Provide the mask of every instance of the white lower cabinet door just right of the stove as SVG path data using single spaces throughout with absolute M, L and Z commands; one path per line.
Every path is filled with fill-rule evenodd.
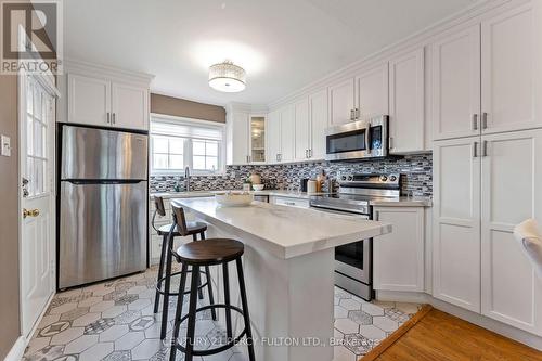
M 424 208 L 374 207 L 373 212 L 392 225 L 373 242 L 374 289 L 424 292 Z

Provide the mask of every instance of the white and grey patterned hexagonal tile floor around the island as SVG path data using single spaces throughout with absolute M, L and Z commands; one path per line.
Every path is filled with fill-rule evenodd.
M 155 278 L 156 269 L 151 269 L 56 294 L 24 360 L 168 360 L 169 348 L 159 339 L 162 313 L 153 313 Z M 176 301 L 175 297 L 170 301 L 168 336 Z M 417 309 L 418 305 L 413 304 L 366 302 L 336 288 L 335 338 L 338 346 L 334 348 L 335 361 L 356 361 Z M 212 321 L 209 311 L 198 315 L 196 336 L 196 348 L 206 349 L 219 346 L 225 333 Z M 182 359 L 179 352 L 177 360 Z M 244 347 L 240 346 L 195 360 L 246 361 L 247 358 Z

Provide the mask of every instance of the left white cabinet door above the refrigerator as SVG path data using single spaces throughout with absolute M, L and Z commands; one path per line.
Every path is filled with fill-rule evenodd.
M 68 74 L 69 123 L 111 126 L 111 81 Z

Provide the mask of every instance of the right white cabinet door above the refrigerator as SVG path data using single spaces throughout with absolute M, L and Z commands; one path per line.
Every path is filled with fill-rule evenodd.
M 149 130 L 149 90 L 113 82 L 111 123 L 115 127 Z

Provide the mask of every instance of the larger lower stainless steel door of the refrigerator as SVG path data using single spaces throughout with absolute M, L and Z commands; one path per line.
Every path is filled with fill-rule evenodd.
M 147 183 L 61 183 L 59 288 L 146 268 Z

